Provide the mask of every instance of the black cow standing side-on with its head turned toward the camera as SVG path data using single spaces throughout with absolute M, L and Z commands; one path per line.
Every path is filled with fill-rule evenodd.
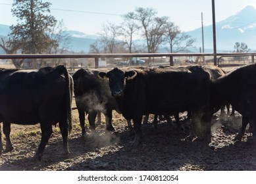
M 194 70 L 152 68 L 124 72 L 114 68 L 99 73 L 101 78 L 109 78 L 111 93 L 124 118 L 134 121 L 134 146 L 140 143 L 143 114 L 175 114 L 186 110 L 193 112 L 194 125 L 196 120 L 202 122 L 203 131 L 199 137 L 211 141 L 210 78 L 203 68 L 198 66 Z

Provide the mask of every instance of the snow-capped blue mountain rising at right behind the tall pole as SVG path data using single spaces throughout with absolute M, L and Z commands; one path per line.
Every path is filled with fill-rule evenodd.
M 213 26 L 204 26 L 205 49 L 213 51 Z M 202 45 L 201 28 L 186 32 L 197 39 L 195 46 Z M 248 48 L 256 49 L 256 9 L 252 5 L 244 7 L 240 12 L 226 20 L 216 22 L 217 51 L 233 51 L 236 42 L 244 42 Z M 199 51 L 199 49 L 198 49 Z

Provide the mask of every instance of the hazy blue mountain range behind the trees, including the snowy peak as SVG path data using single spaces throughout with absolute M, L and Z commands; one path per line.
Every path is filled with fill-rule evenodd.
M 0 37 L 6 37 L 10 32 L 9 26 L 0 24 Z M 213 52 L 213 25 L 203 26 L 205 52 Z M 97 35 L 87 35 L 82 32 L 68 30 L 70 35 L 70 51 L 88 53 L 90 45 L 97 39 Z M 186 34 L 196 41 L 192 52 L 199 52 L 202 47 L 201 28 Z M 246 43 L 248 48 L 256 50 L 256 9 L 247 5 L 240 12 L 216 22 L 217 52 L 232 52 L 236 42 Z M 163 49 L 163 52 L 164 51 Z M 3 53 L 0 49 L 0 53 Z

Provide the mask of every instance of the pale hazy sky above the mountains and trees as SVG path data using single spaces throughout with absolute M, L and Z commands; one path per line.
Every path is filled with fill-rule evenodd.
M 43 0 L 45 2 L 47 0 Z M 48 0 L 52 3 L 51 14 L 64 21 L 68 30 L 85 34 L 97 34 L 104 22 L 120 23 L 120 15 L 134 11 L 136 7 L 153 8 L 158 16 L 169 16 L 184 32 L 201 27 L 203 22 L 212 24 L 212 0 Z M 0 0 L 0 24 L 15 24 L 11 14 L 12 0 Z M 254 5 L 256 0 L 215 0 L 216 22 L 236 14 L 246 5 Z M 241 22 L 242 24 L 242 22 Z

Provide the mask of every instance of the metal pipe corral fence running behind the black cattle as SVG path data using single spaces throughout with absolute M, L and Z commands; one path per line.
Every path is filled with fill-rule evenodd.
M 78 68 L 111 68 L 130 65 L 184 65 L 214 64 L 220 67 L 242 66 L 254 63 L 256 53 L 122 53 L 122 54 L 41 54 L 41 55 L 0 55 L 0 61 L 24 59 L 28 63 L 22 68 L 41 68 L 64 64 L 70 72 Z M 215 60 L 214 58 L 217 58 Z M 145 63 L 133 63 L 133 58 L 141 58 Z M 61 60 L 64 59 L 64 60 Z M 84 62 L 87 59 L 88 62 Z M 60 61 L 61 60 L 61 61 Z M 1 62 L 3 63 L 3 62 Z M 24 62 L 26 63 L 26 62 Z M 1 67 L 1 66 L 0 66 Z M 3 68 L 3 67 L 2 67 Z

